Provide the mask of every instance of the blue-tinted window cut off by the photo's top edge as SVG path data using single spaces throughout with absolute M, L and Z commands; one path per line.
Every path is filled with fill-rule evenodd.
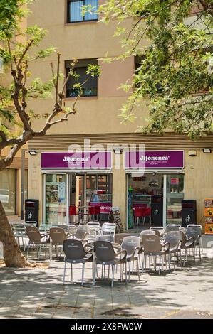
M 91 6 L 91 12 L 87 11 L 82 16 L 82 6 Z M 98 0 L 68 0 L 68 23 L 82 21 L 96 21 L 98 14 L 95 11 L 98 9 Z

